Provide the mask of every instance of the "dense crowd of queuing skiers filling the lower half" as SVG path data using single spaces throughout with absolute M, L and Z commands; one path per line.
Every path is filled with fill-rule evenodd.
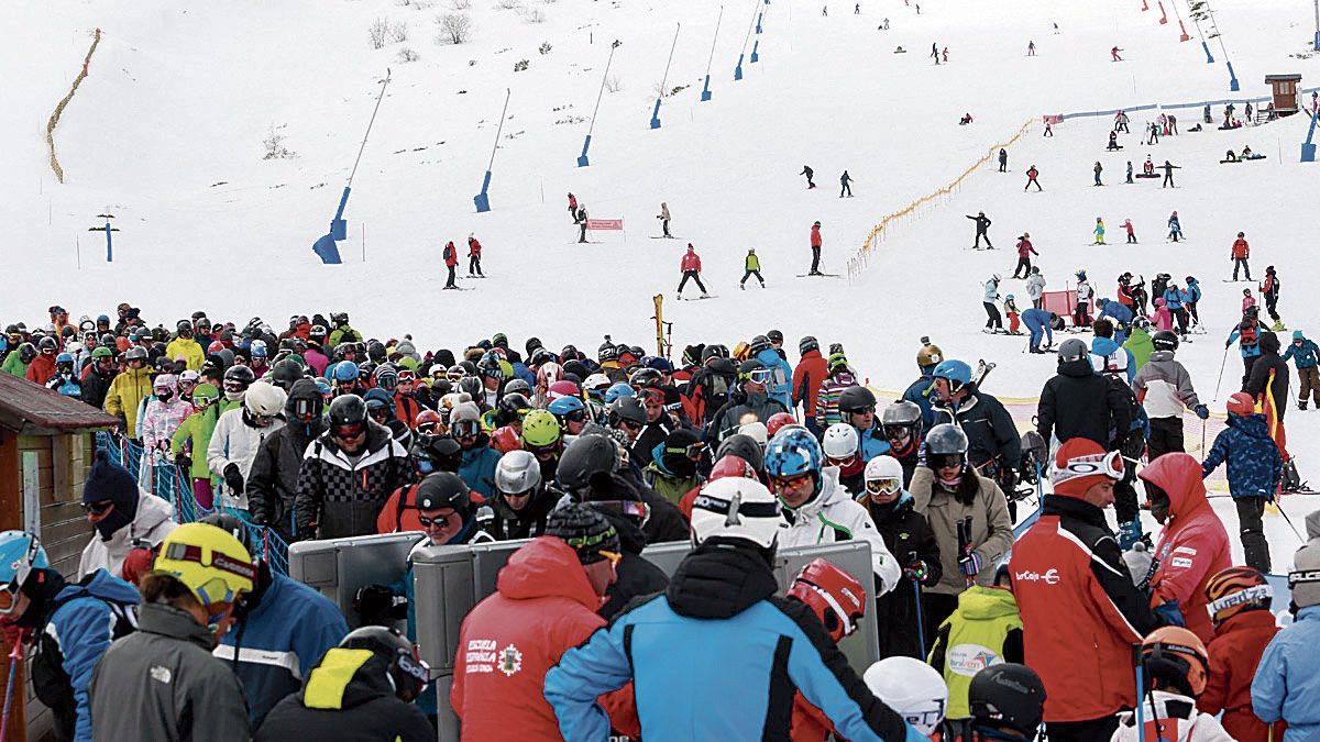
M 594 356 L 503 334 L 422 354 L 345 313 L 279 334 L 197 313 L 168 333 L 129 305 L 114 327 L 54 306 L 49 329 L 9 327 L 5 370 L 17 354 L 28 375 L 22 349 L 54 343 L 44 363 L 81 386 L 70 396 L 145 453 L 136 475 L 98 453 L 78 584 L 33 535 L 0 535 L 0 622 L 46 663 L 33 681 L 61 738 L 433 738 L 432 676 L 383 626 L 414 627 L 411 578 L 362 588 L 346 621 L 275 573 L 248 523 L 286 541 L 532 539 L 459 631 L 466 739 L 1024 741 L 1041 722 L 1053 741 L 1135 739 L 1137 709 L 1189 739 L 1265 739 L 1280 720 L 1304 739 L 1320 725 L 1320 671 L 1296 659 L 1320 631 L 1320 541 L 1295 556 L 1296 623 L 1278 636 L 1262 576 L 1287 462 L 1279 343 L 1238 333 L 1255 360 L 1197 462 L 1181 415 L 1208 411 L 1179 337 L 1129 350 L 1142 323 L 1110 317 L 1090 347 L 1060 345 L 1019 437 L 986 368 L 925 338 L 920 376 L 882 404 L 841 346 L 804 337 L 791 363 L 775 330 L 673 364 L 610 338 Z M 1320 395 L 1316 355 L 1299 333 L 1288 358 Z M 1201 483 L 1224 462 L 1247 566 Z M 214 511 L 203 523 L 176 524 L 150 494 L 176 471 Z M 1320 516 L 1308 525 L 1320 537 Z M 869 580 L 818 560 L 780 594 L 776 548 L 850 540 L 870 547 Z M 694 547 L 672 576 L 643 556 L 664 541 Z M 834 646 L 859 621 L 883 658 L 865 675 Z

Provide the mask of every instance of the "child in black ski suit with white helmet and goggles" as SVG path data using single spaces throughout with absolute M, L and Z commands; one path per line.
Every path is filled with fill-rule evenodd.
M 892 455 L 866 462 L 865 492 L 858 502 L 866 507 L 890 553 L 903 565 L 899 585 L 875 598 L 875 622 L 880 634 L 880 659 L 925 658 L 921 646 L 921 588 L 940 582 L 940 547 L 925 518 L 912 510 L 912 495 L 903 489 L 903 465 Z M 925 638 L 927 640 L 932 638 Z

